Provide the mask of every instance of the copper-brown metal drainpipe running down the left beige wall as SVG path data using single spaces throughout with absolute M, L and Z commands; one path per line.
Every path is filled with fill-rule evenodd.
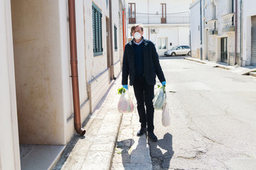
M 79 135 L 85 135 L 85 130 L 82 129 L 80 118 L 80 99 L 78 87 L 78 57 L 76 44 L 76 28 L 75 28 L 75 0 L 68 0 L 68 15 L 70 28 L 70 64 L 73 89 L 73 107 L 74 107 L 74 125 L 75 131 Z

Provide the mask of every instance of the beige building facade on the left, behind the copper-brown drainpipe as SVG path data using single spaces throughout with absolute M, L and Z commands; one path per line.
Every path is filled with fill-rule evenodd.
M 1 0 L 0 169 L 21 168 L 19 145 L 66 145 L 75 134 L 69 2 Z M 124 8 L 75 1 L 81 122 L 121 72 Z

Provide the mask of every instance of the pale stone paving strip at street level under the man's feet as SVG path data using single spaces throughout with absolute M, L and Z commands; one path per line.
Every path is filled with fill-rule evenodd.
M 147 137 L 146 135 L 137 137 L 137 131 L 141 128 L 141 125 L 137 113 L 137 101 L 131 86 L 129 86 L 129 94 L 132 96 L 134 103 L 134 112 L 123 114 L 117 146 L 114 150 L 112 169 L 152 169 Z

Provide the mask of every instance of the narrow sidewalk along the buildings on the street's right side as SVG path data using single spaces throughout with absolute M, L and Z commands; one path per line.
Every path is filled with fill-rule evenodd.
M 240 74 L 240 75 L 251 75 L 251 76 L 254 76 L 256 77 L 256 66 L 245 66 L 245 67 L 238 67 L 238 66 L 230 66 L 226 63 L 223 63 L 223 62 L 210 62 L 208 60 L 200 60 L 198 58 L 193 58 L 193 57 L 187 57 L 187 58 L 184 58 L 185 60 L 189 60 L 189 61 L 192 61 L 192 62 L 199 62 L 201 64 L 206 64 L 208 65 L 209 67 L 219 67 L 221 69 L 226 69 L 230 72 L 233 72 L 233 73 L 237 73 L 237 74 Z

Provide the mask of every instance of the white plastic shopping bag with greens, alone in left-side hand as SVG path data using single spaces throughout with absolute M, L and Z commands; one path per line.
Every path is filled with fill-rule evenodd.
M 119 98 L 118 111 L 119 113 L 131 113 L 134 111 L 134 104 L 132 103 L 132 99 L 129 96 L 128 90 L 122 92 Z

